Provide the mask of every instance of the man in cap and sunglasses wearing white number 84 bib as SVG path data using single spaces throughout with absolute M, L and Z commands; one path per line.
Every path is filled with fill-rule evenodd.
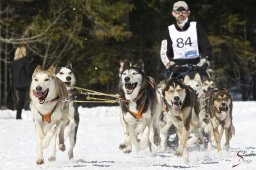
M 174 3 L 172 16 L 176 22 L 169 25 L 161 43 L 160 56 L 164 64 L 165 78 L 169 78 L 175 65 L 198 65 L 209 67 L 211 46 L 202 26 L 189 18 L 186 2 Z

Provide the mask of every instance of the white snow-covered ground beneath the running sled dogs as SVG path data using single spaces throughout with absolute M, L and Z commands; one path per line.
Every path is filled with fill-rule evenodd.
M 56 161 L 49 162 L 49 150 L 44 151 L 45 164 L 36 165 L 36 135 L 30 111 L 23 110 L 23 120 L 16 120 L 16 111 L 0 110 L 0 170 L 33 169 L 189 169 L 189 170 L 255 170 L 256 169 L 256 102 L 234 102 L 233 120 L 236 134 L 229 151 L 190 149 L 190 162 L 174 155 L 174 148 L 165 152 L 153 148 L 122 153 L 123 142 L 119 121 L 120 108 L 79 108 L 80 125 L 74 148 L 75 159 L 68 160 L 67 151 L 58 150 Z M 255 127 L 254 127 L 255 126 Z M 66 141 L 67 148 L 69 142 Z M 238 154 L 238 155 L 237 155 Z M 233 167 L 233 165 L 237 165 Z

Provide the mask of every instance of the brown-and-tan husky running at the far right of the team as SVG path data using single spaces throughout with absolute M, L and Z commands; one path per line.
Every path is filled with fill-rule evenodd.
M 227 89 L 217 89 L 208 92 L 206 113 L 210 115 L 211 137 L 216 143 L 217 151 L 221 151 L 221 139 L 225 131 L 225 149 L 229 149 L 230 140 L 235 134 L 232 121 L 232 96 Z M 208 145 L 209 146 L 209 145 Z

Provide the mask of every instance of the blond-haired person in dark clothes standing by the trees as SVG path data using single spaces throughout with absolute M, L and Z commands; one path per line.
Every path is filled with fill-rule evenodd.
M 21 119 L 22 108 L 25 105 L 32 79 L 32 66 L 28 60 L 27 50 L 24 46 L 18 47 L 15 51 L 12 74 L 13 85 L 18 92 L 16 119 Z

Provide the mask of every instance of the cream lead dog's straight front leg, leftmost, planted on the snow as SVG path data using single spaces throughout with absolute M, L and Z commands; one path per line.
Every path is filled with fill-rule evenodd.
M 36 164 L 41 165 L 44 163 L 44 158 L 43 158 L 43 131 L 41 129 L 40 124 L 35 121 L 35 128 L 36 128 L 36 136 L 37 136 L 37 159 L 36 159 Z

